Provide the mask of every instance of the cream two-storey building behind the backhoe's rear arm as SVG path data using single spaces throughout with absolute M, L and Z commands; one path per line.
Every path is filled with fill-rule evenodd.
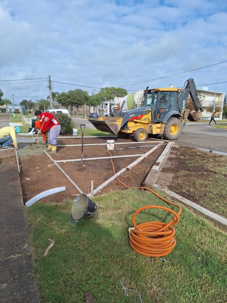
M 208 87 L 197 88 L 197 91 L 199 94 L 199 100 L 201 102 L 201 105 L 204 107 L 204 111 L 202 113 L 202 120 L 209 120 L 211 118 L 212 113 L 207 111 L 206 107 L 214 106 L 214 100 L 215 100 L 215 107 L 218 106 L 221 109 L 221 112 L 216 113 L 215 118 L 222 119 L 225 93 L 216 92 L 216 96 L 215 96 L 215 91 L 210 91 Z

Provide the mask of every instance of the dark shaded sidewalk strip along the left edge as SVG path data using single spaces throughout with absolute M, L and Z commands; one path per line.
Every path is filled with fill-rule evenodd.
M 15 158 L 0 154 L 0 302 L 38 303 L 29 236 Z

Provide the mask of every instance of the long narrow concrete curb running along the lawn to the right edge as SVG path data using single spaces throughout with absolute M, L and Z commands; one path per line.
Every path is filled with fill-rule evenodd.
M 187 205 L 187 206 L 190 206 L 194 209 L 196 209 L 197 211 L 199 211 L 199 213 L 201 215 L 203 215 L 205 218 L 207 218 L 208 220 L 220 225 L 220 226 L 223 226 L 223 227 L 227 227 L 227 219 L 225 219 L 224 217 L 220 216 L 220 215 L 217 215 L 215 213 L 213 213 L 212 211 L 209 211 L 208 209 L 186 199 L 186 198 L 183 198 L 181 197 L 180 195 L 177 195 L 175 192 L 173 191 L 170 191 L 166 188 L 163 188 L 162 186 L 160 185 L 157 185 L 157 184 L 153 184 L 154 187 L 166 192 L 166 194 L 172 196 L 173 198 L 176 198 L 177 200 L 179 200 L 181 203 L 183 203 L 184 205 Z

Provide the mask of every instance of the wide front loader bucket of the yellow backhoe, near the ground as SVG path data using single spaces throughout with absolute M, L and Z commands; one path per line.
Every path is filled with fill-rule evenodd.
M 101 132 L 109 132 L 111 134 L 117 134 L 120 131 L 120 127 L 123 119 L 119 117 L 100 117 L 88 119 L 91 124 L 94 125 L 97 130 Z

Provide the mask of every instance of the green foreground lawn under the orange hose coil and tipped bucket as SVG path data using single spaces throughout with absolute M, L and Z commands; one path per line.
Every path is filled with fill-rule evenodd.
M 136 189 L 93 200 L 98 206 L 96 216 L 78 223 L 70 221 L 71 201 L 37 202 L 26 208 L 40 303 L 83 303 L 87 291 L 92 291 L 97 303 L 138 303 L 138 293 L 129 291 L 127 298 L 120 280 L 140 291 L 143 303 L 226 302 L 227 235 L 223 231 L 182 206 L 174 226 L 176 247 L 165 257 L 171 263 L 166 263 L 137 254 L 128 241 L 134 211 L 144 205 L 166 206 L 165 202 Z M 171 218 L 163 210 L 146 210 L 137 216 L 137 223 Z M 49 237 L 56 242 L 43 258 Z

